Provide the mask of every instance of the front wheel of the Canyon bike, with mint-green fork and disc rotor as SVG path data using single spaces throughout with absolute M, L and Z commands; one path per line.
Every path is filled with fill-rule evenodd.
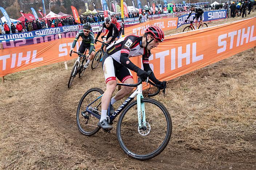
M 169 143 L 172 120 L 168 110 L 159 101 L 143 98 L 141 103 L 145 106 L 146 126 L 138 128 L 137 101 L 133 101 L 120 115 L 116 135 L 128 156 L 147 160 L 160 154 Z

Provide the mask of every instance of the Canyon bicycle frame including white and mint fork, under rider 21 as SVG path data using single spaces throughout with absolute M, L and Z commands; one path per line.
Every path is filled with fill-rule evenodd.
M 123 85 L 123 86 L 129 86 L 129 84 L 121 84 L 121 83 L 117 83 L 117 85 Z M 142 95 L 142 84 L 139 84 L 137 86 L 137 89 L 123 102 L 123 104 L 121 106 L 118 107 L 118 109 L 112 114 L 109 115 L 109 110 L 110 110 L 110 104 L 108 106 L 108 116 L 109 116 L 109 122 L 113 122 L 113 120 L 115 120 L 115 118 L 125 109 L 126 106 L 129 105 L 129 103 L 137 96 L 137 112 L 138 112 L 138 122 L 139 122 L 139 128 L 142 127 L 142 122 L 141 122 L 141 114 L 142 114 L 142 121 L 143 121 L 143 126 L 145 126 L 145 122 L 146 122 L 146 117 L 145 117 L 145 107 L 144 107 L 144 103 L 141 104 L 140 99 L 143 98 Z M 94 102 L 96 102 L 98 99 L 100 99 L 102 97 L 102 95 L 100 95 L 99 97 L 97 97 L 97 99 L 95 99 L 92 103 L 90 103 L 87 107 L 86 107 L 86 111 L 90 114 L 92 114 L 93 116 L 95 116 L 96 118 L 100 119 L 101 115 L 94 113 L 93 111 L 89 110 L 88 107 L 91 106 Z M 99 103 L 99 105 L 101 104 L 101 102 Z M 98 105 L 98 106 L 99 106 Z

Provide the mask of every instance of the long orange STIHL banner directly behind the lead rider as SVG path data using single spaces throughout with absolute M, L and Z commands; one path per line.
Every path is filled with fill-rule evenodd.
M 180 33 L 151 50 L 150 66 L 161 81 L 184 75 L 256 46 L 256 18 Z M 139 35 L 144 28 L 137 30 Z M 70 57 L 73 38 L 0 50 L 0 77 L 9 73 L 76 58 Z M 79 42 L 80 43 L 80 42 Z M 97 43 L 96 49 L 99 49 Z M 79 44 L 76 44 L 76 51 Z M 141 58 L 131 58 L 141 66 Z

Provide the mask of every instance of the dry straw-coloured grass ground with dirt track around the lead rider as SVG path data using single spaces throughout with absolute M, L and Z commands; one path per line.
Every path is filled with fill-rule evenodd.
M 220 22 L 225 20 L 215 24 Z M 91 137 L 79 133 L 81 96 L 95 86 L 105 90 L 105 83 L 102 69 L 88 69 L 68 89 L 73 63 L 68 70 L 57 63 L 5 76 L 0 169 L 255 169 L 252 50 L 168 82 L 165 97 L 155 98 L 171 114 L 172 137 L 163 153 L 144 162 L 125 156 L 115 129 Z

